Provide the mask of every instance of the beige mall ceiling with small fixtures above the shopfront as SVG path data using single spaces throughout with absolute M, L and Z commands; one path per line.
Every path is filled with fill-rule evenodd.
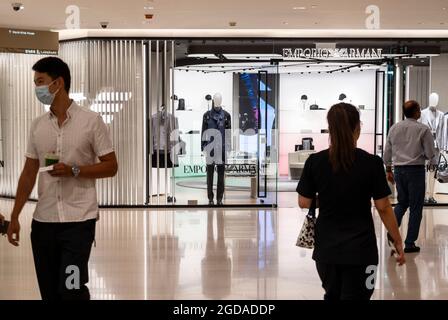
M 0 0 L 0 27 L 63 30 L 77 5 L 81 29 L 365 29 L 371 4 L 381 29 L 448 30 L 448 0 Z

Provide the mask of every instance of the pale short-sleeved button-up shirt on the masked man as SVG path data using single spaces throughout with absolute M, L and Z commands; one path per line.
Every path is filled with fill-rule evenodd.
M 108 127 L 101 116 L 72 102 L 67 120 L 58 125 L 47 112 L 31 124 L 25 156 L 45 166 L 45 154 L 55 153 L 66 165 L 86 166 L 113 152 Z M 38 203 L 33 218 L 40 222 L 82 222 L 98 219 L 95 179 L 52 177 L 39 173 Z

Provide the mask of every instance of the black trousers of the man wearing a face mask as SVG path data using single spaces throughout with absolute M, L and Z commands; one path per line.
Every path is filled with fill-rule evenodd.
M 88 262 L 96 220 L 33 220 L 31 245 L 42 300 L 90 300 Z

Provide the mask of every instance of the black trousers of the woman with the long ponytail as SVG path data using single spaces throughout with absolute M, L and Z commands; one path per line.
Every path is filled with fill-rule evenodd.
M 316 262 L 324 300 L 370 300 L 375 281 L 367 265 L 340 265 Z M 368 286 L 369 284 L 369 286 Z

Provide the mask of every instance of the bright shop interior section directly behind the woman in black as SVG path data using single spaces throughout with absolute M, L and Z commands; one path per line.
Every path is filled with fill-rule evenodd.
M 385 61 L 279 63 L 278 202 L 282 206 L 297 205 L 295 190 L 286 186 L 297 185 L 311 154 L 329 147 L 326 116 L 332 105 L 345 102 L 358 108 L 362 122 L 358 147 L 382 156 L 391 68 Z

